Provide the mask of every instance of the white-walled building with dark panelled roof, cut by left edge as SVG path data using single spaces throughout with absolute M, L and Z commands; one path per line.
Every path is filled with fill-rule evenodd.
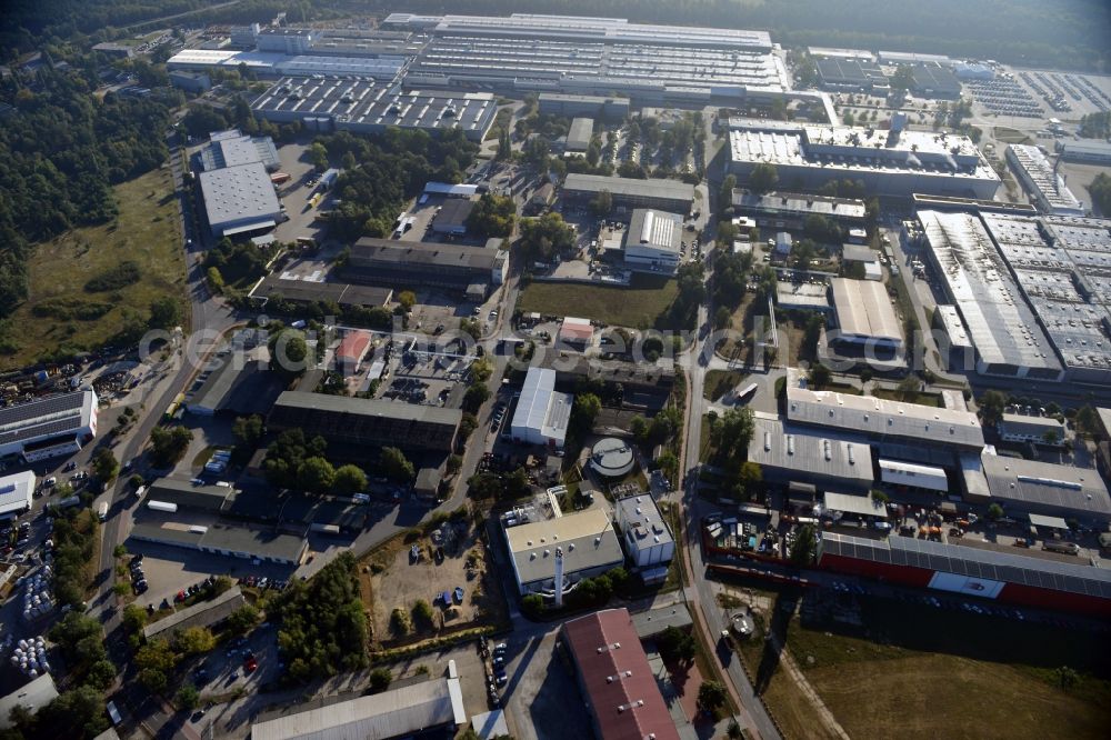
M 88 389 L 0 409 L 0 458 L 38 462 L 77 452 L 97 436 L 98 403 Z

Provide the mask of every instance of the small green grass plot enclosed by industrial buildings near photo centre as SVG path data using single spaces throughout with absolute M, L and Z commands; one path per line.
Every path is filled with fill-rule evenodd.
M 521 291 L 520 311 L 573 316 L 632 329 L 677 329 L 668 309 L 679 294 L 674 280 L 633 276 L 629 288 L 533 282 Z

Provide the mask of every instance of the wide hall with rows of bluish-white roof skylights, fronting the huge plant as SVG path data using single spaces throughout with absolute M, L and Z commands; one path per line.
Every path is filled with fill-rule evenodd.
M 394 86 L 348 76 L 286 77 L 251 103 L 274 123 L 300 121 L 313 131 L 376 133 L 389 127 L 439 132 L 459 129 L 481 141 L 498 112 L 488 92 L 403 92 Z

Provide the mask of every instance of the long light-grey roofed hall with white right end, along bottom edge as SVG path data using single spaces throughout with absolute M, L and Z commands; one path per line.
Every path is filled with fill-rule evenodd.
M 336 703 L 291 707 L 284 716 L 251 726 L 252 740 L 402 738 L 467 721 L 451 681 L 433 679 Z M 457 706 L 458 704 L 458 706 Z M 460 716 L 462 719 L 460 720 Z

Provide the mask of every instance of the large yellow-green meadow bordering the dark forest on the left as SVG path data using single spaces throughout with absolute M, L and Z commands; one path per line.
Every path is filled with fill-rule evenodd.
M 36 248 L 28 264 L 30 298 L 3 331 L 16 351 L 0 358 L 0 367 L 21 367 L 61 349 L 99 347 L 124 327 L 129 316 L 146 320 L 151 301 L 160 296 L 179 298 L 188 311 L 186 258 L 169 170 L 120 184 L 116 197 L 120 208 L 116 224 L 74 229 Z M 86 290 L 90 279 L 127 260 L 139 266 L 137 282 L 114 290 Z M 50 311 L 51 307 L 62 310 Z M 74 318 L 78 310 L 87 310 L 88 318 Z M 188 317 L 183 320 L 188 326 Z

